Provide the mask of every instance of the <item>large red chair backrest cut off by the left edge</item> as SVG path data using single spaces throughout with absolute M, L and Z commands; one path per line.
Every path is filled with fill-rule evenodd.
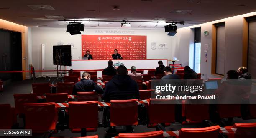
M 0 129 L 11 129 L 17 122 L 15 109 L 10 104 L 0 104 Z

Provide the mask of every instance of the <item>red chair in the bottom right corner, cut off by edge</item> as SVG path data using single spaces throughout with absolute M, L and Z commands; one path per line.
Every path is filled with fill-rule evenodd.
M 235 128 L 234 132 L 232 128 Z M 226 126 L 226 131 L 229 133 L 228 138 L 255 138 L 256 123 L 235 123 L 233 126 Z

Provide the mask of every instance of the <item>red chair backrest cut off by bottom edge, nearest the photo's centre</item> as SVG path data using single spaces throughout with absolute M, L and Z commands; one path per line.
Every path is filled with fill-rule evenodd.
M 163 138 L 163 131 L 151 131 L 143 133 L 119 133 L 119 138 Z

